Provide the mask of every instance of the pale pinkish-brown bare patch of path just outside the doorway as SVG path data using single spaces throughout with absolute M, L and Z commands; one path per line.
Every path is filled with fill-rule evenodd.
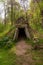
M 16 55 L 24 55 L 28 49 L 31 50 L 31 46 L 26 44 L 24 40 L 21 40 L 16 45 Z

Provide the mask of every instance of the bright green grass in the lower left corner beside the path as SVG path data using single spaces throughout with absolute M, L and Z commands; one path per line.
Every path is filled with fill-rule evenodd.
M 0 49 L 0 65 L 15 65 L 16 55 L 10 50 Z

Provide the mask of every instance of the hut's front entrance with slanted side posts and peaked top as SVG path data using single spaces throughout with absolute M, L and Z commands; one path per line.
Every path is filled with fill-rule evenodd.
M 15 27 L 14 39 L 30 38 L 28 22 L 23 17 L 16 20 Z

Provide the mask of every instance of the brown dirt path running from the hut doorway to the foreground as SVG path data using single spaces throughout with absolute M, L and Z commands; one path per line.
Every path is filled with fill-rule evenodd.
M 34 60 L 31 54 L 31 45 L 28 45 L 24 40 L 16 44 L 16 65 L 33 65 Z M 12 49 L 14 52 L 14 48 Z

